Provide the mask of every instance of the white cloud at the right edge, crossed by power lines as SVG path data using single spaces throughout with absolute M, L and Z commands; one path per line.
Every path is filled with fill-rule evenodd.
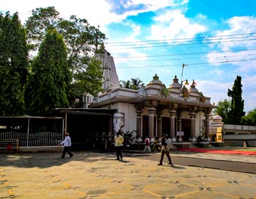
M 255 50 L 250 50 L 256 48 L 256 18 L 253 16 L 234 16 L 225 21 L 225 23 L 228 24 L 229 29 L 217 31 L 215 38 L 211 40 L 213 44 L 210 47 L 220 51 L 238 49 L 247 49 L 247 51 L 210 53 L 208 54 L 208 61 L 215 63 L 215 65 L 222 64 L 216 62 L 228 61 L 233 65 L 238 65 L 240 67 L 238 70 L 242 72 L 256 70 Z

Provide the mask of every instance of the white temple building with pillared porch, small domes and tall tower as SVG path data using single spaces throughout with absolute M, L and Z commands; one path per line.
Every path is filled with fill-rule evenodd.
M 105 92 L 93 99 L 90 108 L 116 109 L 113 131 L 137 131 L 137 136 L 169 134 L 173 142 L 196 141 L 203 134 L 210 141 L 210 97 L 203 96 L 193 82 L 186 87 L 174 75 L 166 87 L 158 75 L 139 90 L 119 87 L 114 59 L 104 51 L 102 57 Z

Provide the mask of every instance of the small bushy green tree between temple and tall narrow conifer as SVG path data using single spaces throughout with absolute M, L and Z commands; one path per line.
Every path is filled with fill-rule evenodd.
M 217 108 L 213 110 L 214 114 L 218 114 L 223 118 L 224 124 L 228 124 L 228 114 L 230 112 L 231 102 L 228 99 L 218 102 Z

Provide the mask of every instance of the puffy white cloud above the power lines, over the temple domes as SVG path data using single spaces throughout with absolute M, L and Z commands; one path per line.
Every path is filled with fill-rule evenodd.
M 151 39 L 193 38 L 206 31 L 206 27 L 191 22 L 181 10 L 166 11 L 154 17 L 155 25 L 151 26 Z

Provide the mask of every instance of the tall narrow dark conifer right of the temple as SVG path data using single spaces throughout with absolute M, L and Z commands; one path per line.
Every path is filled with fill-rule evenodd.
M 232 90 L 228 89 L 228 97 L 232 97 L 230 112 L 228 114 L 229 124 L 241 124 L 244 112 L 244 100 L 242 99 L 242 78 L 237 76 Z

